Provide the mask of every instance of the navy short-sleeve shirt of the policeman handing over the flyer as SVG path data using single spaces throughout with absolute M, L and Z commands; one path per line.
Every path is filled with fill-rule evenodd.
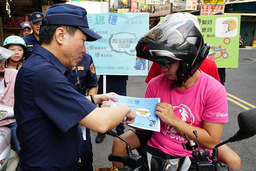
M 14 113 L 20 141 L 20 170 L 62 170 L 82 155 L 78 122 L 96 108 L 66 78 L 67 69 L 35 45 L 15 82 Z

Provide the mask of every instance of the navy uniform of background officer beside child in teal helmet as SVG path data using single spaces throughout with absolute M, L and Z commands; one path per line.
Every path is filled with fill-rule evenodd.
M 24 60 L 26 61 L 28 57 L 31 56 L 31 54 L 33 54 L 35 45 L 39 45 L 39 41 L 37 40 L 37 38 L 33 33 L 22 37 L 22 39 L 25 41 L 27 45 L 27 52 L 24 56 Z

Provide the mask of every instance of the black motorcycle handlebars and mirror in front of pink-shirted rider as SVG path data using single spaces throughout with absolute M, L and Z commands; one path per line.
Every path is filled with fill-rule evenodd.
M 197 162 L 196 171 L 244 171 L 244 170 L 233 170 L 228 169 L 228 166 L 225 163 L 217 163 L 218 158 L 218 147 L 224 145 L 226 143 L 233 143 L 235 141 L 241 141 L 244 139 L 248 139 L 256 134 L 256 108 L 246 110 L 240 113 L 237 117 L 239 130 L 234 134 L 234 136 L 230 137 L 228 140 L 223 141 L 216 145 L 213 148 L 212 156 L 208 150 L 200 150 L 199 145 L 196 142 L 197 132 L 193 131 L 195 134 L 195 140 L 189 141 L 187 133 L 184 134 L 185 139 L 187 139 L 187 143 L 182 143 L 184 149 L 192 151 L 192 156 L 194 158 L 208 157 L 210 160 L 199 161 Z M 96 171 L 143 171 L 143 162 L 142 157 L 137 154 L 132 154 L 130 146 L 128 142 L 115 134 L 113 131 L 108 131 L 106 134 L 115 136 L 126 143 L 127 154 L 125 156 L 117 156 L 110 154 L 108 156 L 109 161 L 122 162 L 124 164 L 124 168 L 112 168 L 112 167 L 104 167 L 98 168 Z M 195 150 L 197 149 L 198 150 Z M 190 160 L 188 156 L 180 158 L 180 159 L 170 159 L 163 160 L 161 158 L 157 158 L 156 156 L 152 156 L 151 154 L 147 154 L 148 158 L 148 168 L 150 171 L 187 171 L 190 166 Z M 154 168 L 154 169 L 152 169 Z

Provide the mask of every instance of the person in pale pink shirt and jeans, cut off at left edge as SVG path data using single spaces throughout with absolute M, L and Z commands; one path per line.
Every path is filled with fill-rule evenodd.
M 5 68 L 4 63 L 13 55 L 14 53 L 10 50 L 0 47 L 0 104 L 10 107 L 14 106 L 14 84 L 18 71 L 16 69 Z M 0 121 L 0 126 L 5 126 L 11 129 L 11 141 L 14 144 L 15 151 L 18 152 L 20 150 L 20 144 L 16 136 L 16 120 L 9 119 Z M 11 156 L 14 156 L 14 154 L 11 154 Z M 17 156 L 17 154 L 15 156 Z M 7 170 L 15 170 L 18 162 L 18 157 L 11 157 L 7 164 Z

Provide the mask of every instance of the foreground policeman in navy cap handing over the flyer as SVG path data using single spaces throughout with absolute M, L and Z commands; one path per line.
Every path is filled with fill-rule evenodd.
M 106 107 L 110 103 L 104 101 L 117 100 L 115 93 L 85 97 L 67 79 L 68 68 L 86 51 L 85 41 L 101 38 L 89 28 L 84 8 L 56 4 L 48 9 L 41 21 L 40 45 L 35 45 L 15 82 L 20 171 L 77 171 L 83 149 L 80 124 L 104 133 L 121 121 L 135 120 L 126 105 Z M 102 102 L 104 107 L 95 106 Z

